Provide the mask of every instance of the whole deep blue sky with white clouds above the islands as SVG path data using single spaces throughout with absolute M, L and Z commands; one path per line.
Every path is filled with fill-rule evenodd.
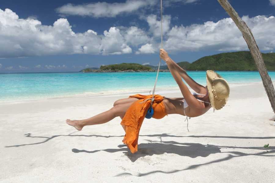
M 230 0 L 262 52 L 275 48 L 275 0 Z M 163 0 L 164 48 L 176 62 L 248 50 L 215 0 Z M 0 73 L 157 65 L 158 0 L 2 1 Z M 164 64 L 164 63 L 163 63 Z

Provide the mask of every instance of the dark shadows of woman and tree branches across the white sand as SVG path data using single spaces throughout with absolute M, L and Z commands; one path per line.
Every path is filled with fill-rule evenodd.
M 73 132 L 75 133 L 75 132 Z M 51 137 L 43 137 L 43 136 L 32 136 L 30 133 L 25 134 L 25 137 L 28 138 L 42 138 L 41 142 L 36 142 L 36 143 L 30 143 L 30 144 L 19 144 L 19 145 L 10 145 L 10 146 L 5 146 L 6 148 L 10 147 L 20 147 L 20 146 L 25 146 L 25 145 L 37 145 L 37 144 L 42 144 L 46 143 L 53 138 L 57 137 L 101 137 L 101 138 L 112 138 L 112 137 L 124 137 L 124 135 L 120 136 L 103 136 L 103 135 L 72 135 L 73 133 L 70 133 L 69 135 L 53 135 Z M 162 137 L 179 137 L 179 138 L 236 138 L 236 139 L 275 139 L 275 137 L 235 137 L 235 136 L 176 136 L 176 135 L 169 135 L 169 134 L 154 134 L 154 135 L 139 135 L 139 136 L 146 136 L 146 137 L 159 137 L 160 139 Z M 180 143 L 180 142 L 175 142 L 175 141 L 151 141 L 147 140 L 148 143 L 141 143 L 138 146 L 138 152 L 132 154 L 129 149 L 126 147 L 126 145 L 118 145 L 118 149 L 99 149 L 99 150 L 93 150 L 93 151 L 88 151 L 88 150 L 79 150 L 79 149 L 72 149 L 72 152 L 75 153 L 96 153 L 98 151 L 105 151 L 105 152 L 123 152 L 125 156 L 127 156 L 132 162 L 135 162 L 141 157 L 144 156 L 152 156 L 154 154 L 160 155 L 164 153 L 173 153 L 173 154 L 178 154 L 180 156 L 188 156 L 191 158 L 196 158 L 198 156 L 201 157 L 207 157 L 210 154 L 215 154 L 215 153 L 228 153 L 228 156 L 225 158 L 213 160 L 207 163 L 202 163 L 202 164 L 195 164 L 191 165 L 187 168 L 180 169 L 180 170 L 172 170 L 172 171 L 162 171 L 162 170 L 154 170 L 154 171 L 149 171 L 146 173 L 138 173 L 138 174 L 131 174 L 131 173 L 121 173 L 117 174 L 116 176 L 125 176 L 125 175 L 133 175 L 133 176 L 146 176 L 149 174 L 155 174 L 155 173 L 163 173 L 163 174 L 171 174 L 171 173 L 176 173 L 184 170 L 190 170 L 190 169 L 195 169 L 200 166 L 208 165 L 211 163 L 218 163 L 226 160 L 230 160 L 232 158 L 236 157 L 242 157 L 242 156 L 266 156 L 266 157 L 273 157 L 275 155 L 270 155 L 270 153 L 275 152 L 275 147 L 269 148 L 268 152 L 266 152 L 266 149 L 263 147 L 236 147 L 236 146 L 218 146 L 218 145 L 203 145 L 199 143 Z M 232 148 L 232 149 L 258 149 L 261 150 L 261 152 L 258 153 L 244 153 L 244 152 L 239 152 L 239 151 L 226 151 L 226 152 L 221 152 L 222 148 Z

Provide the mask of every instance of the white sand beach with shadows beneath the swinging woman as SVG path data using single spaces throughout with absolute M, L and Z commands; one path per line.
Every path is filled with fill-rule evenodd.
M 189 120 L 190 132 L 184 116 L 145 119 L 134 154 L 122 143 L 119 117 L 82 131 L 65 123 L 126 94 L 2 103 L 0 182 L 274 182 L 274 113 L 262 83 L 230 89 L 223 109 Z

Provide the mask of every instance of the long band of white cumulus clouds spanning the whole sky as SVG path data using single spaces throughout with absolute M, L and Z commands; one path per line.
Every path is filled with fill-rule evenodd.
M 195 1 L 194 1 L 195 2 Z M 188 3 L 185 1 L 185 3 Z M 191 1 L 190 1 L 191 3 Z M 275 17 L 243 16 L 251 28 L 262 51 L 274 51 Z M 68 54 L 152 54 L 160 48 L 161 22 L 156 15 L 149 15 L 149 29 L 110 27 L 104 34 L 94 30 L 75 33 L 67 19 L 60 18 L 52 26 L 42 25 L 39 20 L 20 19 L 10 9 L 0 9 L 0 58 Z M 189 26 L 171 25 L 171 16 L 163 16 L 164 48 L 179 51 L 238 51 L 247 50 L 247 44 L 231 18 L 217 22 Z M 44 66 L 48 69 L 63 66 Z

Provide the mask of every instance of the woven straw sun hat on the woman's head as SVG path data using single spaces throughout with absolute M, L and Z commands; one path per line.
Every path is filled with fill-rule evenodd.
M 211 106 L 222 109 L 229 97 L 229 84 L 213 70 L 206 71 L 206 83 Z

